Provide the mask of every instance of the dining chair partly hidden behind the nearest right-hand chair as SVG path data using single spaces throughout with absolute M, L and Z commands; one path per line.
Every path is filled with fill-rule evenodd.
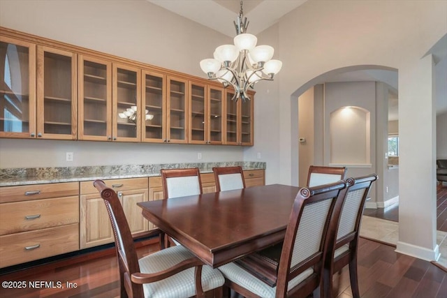
M 332 274 L 349 265 L 352 294 L 354 298 L 360 298 L 357 272 L 358 237 L 369 189 L 377 179 L 376 174 L 346 179 L 346 199 L 341 215 L 335 218 L 337 223 L 334 227 L 337 232 L 331 234 L 332 239 L 328 239 L 328 245 L 333 248 L 328 249 L 328 255 L 325 258 L 323 284 L 327 287 L 325 288 L 326 297 L 330 297 L 332 292 Z

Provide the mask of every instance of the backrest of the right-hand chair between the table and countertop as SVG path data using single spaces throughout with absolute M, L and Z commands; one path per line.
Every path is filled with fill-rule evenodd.
M 244 172 L 242 167 L 213 167 L 216 191 L 230 191 L 245 188 Z

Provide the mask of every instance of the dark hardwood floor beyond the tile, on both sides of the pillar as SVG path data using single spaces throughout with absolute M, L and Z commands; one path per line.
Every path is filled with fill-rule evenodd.
M 447 185 L 437 186 L 437 230 L 447 232 Z M 388 221 L 399 221 L 399 204 L 387 208 L 365 209 L 363 214 Z

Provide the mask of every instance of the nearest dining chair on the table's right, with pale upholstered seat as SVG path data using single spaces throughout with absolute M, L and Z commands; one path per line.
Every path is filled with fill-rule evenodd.
M 327 246 L 326 234 L 335 232 L 330 225 L 334 223 L 332 218 L 339 216 L 345 195 L 344 181 L 300 188 L 284 242 L 265 249 L 267 255 L 276 252 L 279 257 L 270 259 L 272 266 L 263 270 L 242 266 L 237 261 L 219 267 L 226 287 L 244 297 L 307 297 L 314 291 L 322 296 L 324 258 L 327 249 L 333 248 Z M 257 254 L 259 258 L 267 257 Z M 264 271 L 272 274 L 265 276 Z

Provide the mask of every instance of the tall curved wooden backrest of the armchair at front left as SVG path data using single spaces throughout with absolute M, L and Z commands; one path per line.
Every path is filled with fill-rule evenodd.
M 115 234 L 119 278 L 124 288 L 131 291 L 130 295 L 122 288 L 121 297 L 127 297 L 128 295 L 130 297 L 143 297 L 142 285 L 131 282 L 131 275 L 135 272 L 140 272 L 140 266 L 138 265 L 138 255 L 133 244 L 129 223 L 124 214 L 122 204 L 119 202 L 118 195 L 101 180 L 94 181 L 93 185 L 101 193 L 101 198 L 105 202 L 112 230 Z

